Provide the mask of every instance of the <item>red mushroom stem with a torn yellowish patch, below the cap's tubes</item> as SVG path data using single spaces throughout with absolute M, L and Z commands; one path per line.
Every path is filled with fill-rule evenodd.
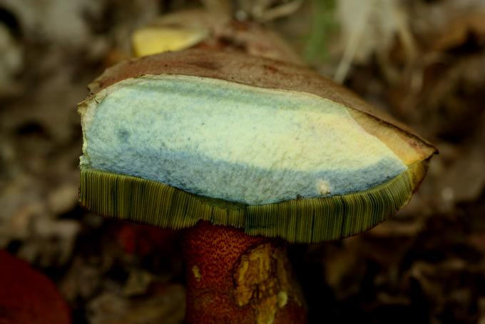
M 306 323 L 285 243 L 199 222 L 185 230 L 187 323 Z

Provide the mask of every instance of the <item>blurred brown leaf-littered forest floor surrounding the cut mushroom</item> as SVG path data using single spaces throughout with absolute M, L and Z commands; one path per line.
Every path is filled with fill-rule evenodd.
M 179 233 L 77 203 L 76 103 L 147 42 L 300 61 L 439 148 L 397 216 L 290 246 L 310 323 L 485 323 L 485 1 L 0 0 L 0 250 L 73 323 L 183 320 Z

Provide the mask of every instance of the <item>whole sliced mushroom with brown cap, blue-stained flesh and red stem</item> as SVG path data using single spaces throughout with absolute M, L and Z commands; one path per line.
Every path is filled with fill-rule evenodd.
M 436 153 L 319 74 L 245 54 L 132 59 L 90 89 L 81 204 L 185 228 L 188 323 L 305 323 L 285 242 L 376 226 Z

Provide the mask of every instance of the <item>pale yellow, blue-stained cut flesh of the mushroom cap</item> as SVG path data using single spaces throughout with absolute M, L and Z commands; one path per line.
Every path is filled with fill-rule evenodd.
M 81 166 L 249 205 L 357 193 L 407 166 L 335 102 L 143 76 L 83 103 Z

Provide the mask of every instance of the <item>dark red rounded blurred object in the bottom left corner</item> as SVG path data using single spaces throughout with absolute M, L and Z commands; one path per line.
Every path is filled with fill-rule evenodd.
M 0 250 L 0 324 L 68 324 L 66 301 L 44 274 Z

